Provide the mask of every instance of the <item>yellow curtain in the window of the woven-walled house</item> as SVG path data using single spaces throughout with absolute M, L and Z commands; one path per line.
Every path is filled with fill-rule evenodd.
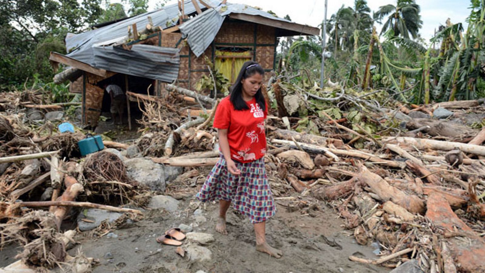
M 246 61 L 250 61 L 252 59 L 251 51 L 244 51 L 244 52 L 228 52 L 228 51 L 215 51 L 215 68 L 221 72 L 227 79 L 233 83 L 236 78 L 238 77 L 239 70 L 242 67 L 242 64 Z M 239 58 L 228 58 L 228 57 L 219 57 L 219 56 L 235 56 Z M 241 58 L 247 57 L 247 58 Z

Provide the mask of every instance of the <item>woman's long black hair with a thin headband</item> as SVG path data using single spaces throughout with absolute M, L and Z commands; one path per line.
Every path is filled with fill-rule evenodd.
M 259 73 L 261 76 L 264 75 L 264 69 L 256 62 L 247 61 L 242 65 L 241 71 L 239 71 L 238 78 L 236 82 L 231 86 L 231 97 L 230 100 L 232 105 L 234 105 L 235 110 L 249 110 L 244 99 L 242 99 L 242 83 L 241 81 L 247 78 L 252 77 L 254 74 Z M 256 103 L 259 104 L 259 107 L 264 111 L 266 109 L 266 103 L 264 100 L 263 92 L 261 91 L 261 87 L 259 87 L 258 92 L 254 95 L 256 99 Z

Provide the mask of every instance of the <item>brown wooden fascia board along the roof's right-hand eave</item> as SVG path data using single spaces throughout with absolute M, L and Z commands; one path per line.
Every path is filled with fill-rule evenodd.
M 257 23 L 257 24 L 261 24 L 261 25 L 275 27 L 275 28 L 279 28 L 279 29 L 290 30 L 290 31 L 294 31 L 294 32 L 298 32 L 298 33 L 306 34 L 306 35 L 319 35 L 320 34 L 320 29 L 315 28 L 315 27 L 300 25 L 300 24 L 296 24 L 296 23 L 289 23 L 289 22 L 285 22 L 285 21 L 273 20 L 273 19 L 266 18 L 266 17 L 263 17 L 263 16 L 233 13 L 233 14 L 229 15 L 229 17 L 231 17 L 233 19 L 242 20 L 242 21 L 253 22 L 253 23 Z

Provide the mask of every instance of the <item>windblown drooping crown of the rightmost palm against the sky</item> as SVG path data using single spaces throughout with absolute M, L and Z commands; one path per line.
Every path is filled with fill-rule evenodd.
M 394 36 L 409 39 L 409 34 L 416 38 L 422 26 L 420 11 L 420 5 L 416 4 L 415 0 L 397 0 L 395 6 L 388 4 L 380 7 L 374 16 L 379 21 L 388 16 L 381 35 L 392 29 Z

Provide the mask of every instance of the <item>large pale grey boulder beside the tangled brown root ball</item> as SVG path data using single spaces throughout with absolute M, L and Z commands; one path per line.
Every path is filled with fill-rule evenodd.
M 143 158 L 127 159 L 125 165 L 129 178 L 146 185 L 152 191 L 165 191 L 165 171 L 162 165 Z

